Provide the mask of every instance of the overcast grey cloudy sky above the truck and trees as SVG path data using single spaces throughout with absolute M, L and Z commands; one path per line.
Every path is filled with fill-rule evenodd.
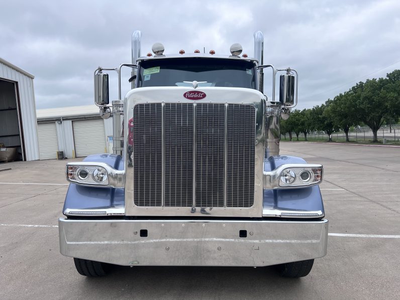
M 399 12 L 398 0 L 4 1 L 0 57 L 35 75 L 37 109 L 89 105 L 94 69 L 130 63 L 134 30 L 142 31 L 142 55 L 154 42 L 167 54 L 229 54 L 239 42 L 249 56 L 261 30 L 264 63 L 299 72 L 303 109 L 400 68 Z

